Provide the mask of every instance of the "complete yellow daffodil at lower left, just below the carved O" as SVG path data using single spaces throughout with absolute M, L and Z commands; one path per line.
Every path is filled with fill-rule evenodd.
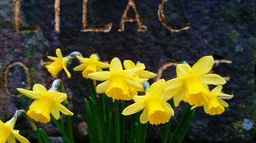
M 48 123 L 51 120 L 50 113 L 58 120 L 60 118 L 59 111 L 72 116 L 73 113 L 68 110 L 61 102 L 67 99 L 67 94 L 56 91 L 47 91 L 44 85 L 35 84 L 33 91 L 25 89 L 17 89 L 20 93 L 35 101 L 29 106 L 27 115 L 37 122 Z

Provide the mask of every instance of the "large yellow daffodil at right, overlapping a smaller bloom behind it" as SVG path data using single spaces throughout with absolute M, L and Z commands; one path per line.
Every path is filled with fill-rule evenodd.
M 207 74 L 214 65 L 212 56 L 204 56 L 192 68 L 186 64 L 178 64 L 177 78 L 166 81 L 165 94 L 174 96 L 174 104 L 180 101 L 190 105 L 202 106 L 210 101 L 205 85 L 223 85 L 226 83 L 218 74 Z

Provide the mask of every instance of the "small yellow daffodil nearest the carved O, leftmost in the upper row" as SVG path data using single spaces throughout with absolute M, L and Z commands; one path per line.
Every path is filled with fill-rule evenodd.
M 67 73 L 68 78 L 71 78 L 71 74 L 67 69 L 67 64 L 70 61 L 69 56 L 63 58 L 60 49 L 56 49 L 56 55 L 57 57 L 47 56 L 47 58 L 54 62 L 49 65 L 46 65 L 45 67 L 52 74 L 53 77 L 56 77 L 56 75 L 61 69 L 64 69 Z

